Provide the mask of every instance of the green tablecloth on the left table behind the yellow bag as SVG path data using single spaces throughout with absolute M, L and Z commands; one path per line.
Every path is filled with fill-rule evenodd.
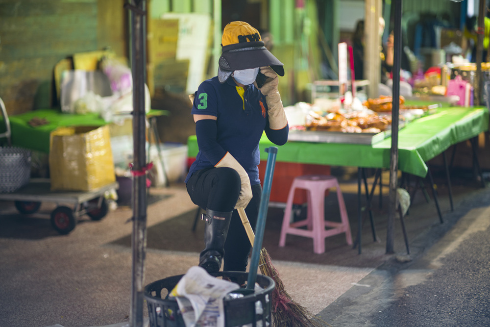
M 166 115 L 166 110 L 151 109 L 147 116 Z M 33 118 L 44 118 L 48 124 L 30 126 Z M 38 109 L 9 116 L 12 146 L 49 153 L 49 133 L 62 126 L 104 126 L 109 124 L 97 113 L 84 115 L 62 113 L 59 109 Z M 0 117 L 0 126 L 4 126 Z M 0 127 L 1 128 L 1 127 Z

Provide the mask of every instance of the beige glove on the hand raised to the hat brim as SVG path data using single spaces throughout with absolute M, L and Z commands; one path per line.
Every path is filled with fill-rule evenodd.
M 269 126 L 271 129 L 282 129 L 288 124 L 286 113 L 281 101 L 281 95 L 277 90 L 279 78 L 269 66 L 260 67 L 260 72 L 270 79 L 259 89 L 260 93 L 266 96 L 266 103 L 269 110 Z

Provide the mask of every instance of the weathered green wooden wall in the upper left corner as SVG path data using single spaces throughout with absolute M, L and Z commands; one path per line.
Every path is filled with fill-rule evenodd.
M 0 97 L 9 115 L 53 105 L 53 69 L 59 60 L 104 47 L 126 56 L 123 3 L 0 1 Z

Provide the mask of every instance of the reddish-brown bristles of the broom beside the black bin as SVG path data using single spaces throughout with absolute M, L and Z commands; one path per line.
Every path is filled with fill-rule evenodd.
M 319 317 L 310 313 L 302 305 L 294 302 L 284 284 L 279 278 L 277 270 L 272 265 L 272 260 L 266 249 L 260 250 L 259 268 L 262 275 L 272 278 L 275 288 L 272 291 L 272 323 L 273 326 L 288 327 L 322 327 L 330 326 Z

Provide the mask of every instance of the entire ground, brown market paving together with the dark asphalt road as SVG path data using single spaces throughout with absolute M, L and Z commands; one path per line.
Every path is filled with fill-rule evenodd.
M 490 189 L 477 184 L 453 180 L 451 212 L 444 183 L 438 182 L 444 224 L 434 202 L 418 193 L 406 219 L 408 257 L 398 220 L 397 252 L 385 253 L 385 209 L 375 210 L 377 242 L 368 223 L 363 229 L 361 255 L 341 235 L 327 239 L 321 255 L 312 255 L 311 241 L 302 238 L 288 237 L 285 248 L 272 248 L 272 239 L 266 248 L 292 298 L 331 326 L 489 326 Z M 356 185 L 346 178 L 341 188 L 355 236 Z M 180 184 L 151 194 L 148 229 L 162 230 L 195 208 Z M 52 209 L 43 203 L 40 213 Z M 127 326 L 132 253 L 118 241 L 131 235 L 131 215 L 121 206 L 99 222 L 82 218 L 62 236 L 45 216 L 21 216 L 12 202 L 0 202 L 0 326 Z M 281 210 L 270 210 L 270 237 L 278 237 L 274 228 L 281 219 Z M 202 237 L 185 235 L 193 237 L 190 242 Z M 274 259 L 288 253 L 291 260 Z M 185 273 L 197 257 L 198 252 L 148 248 L 145 284 Z M 406 258 L 412 261 L 400 262 Z

